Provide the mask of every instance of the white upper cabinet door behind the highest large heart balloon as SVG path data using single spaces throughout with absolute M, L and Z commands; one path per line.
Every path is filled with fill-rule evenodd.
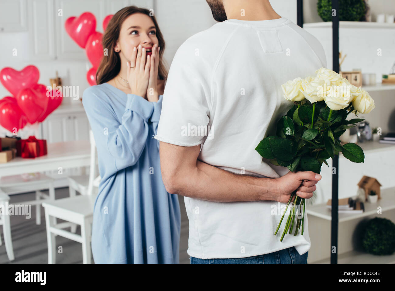
M 61 9 L 62 16 L 59 16 Z M 105 11 L 105 0 L 55 0 L 56 23 L 56 55 L 62 60 L 87 60 L 85 50 L 79 47 L 64 28 L 66 19 L 79 17 L 84 12 L 93 13 L 96 17 L 96 31 L 103 31 L 103 19 L 109 14 Z

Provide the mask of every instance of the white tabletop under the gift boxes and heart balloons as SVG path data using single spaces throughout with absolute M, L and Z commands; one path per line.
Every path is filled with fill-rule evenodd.
M 47 145 L 47 155 L 34 159 L 16 157 L 0 164 L 0 177 L 32 172 L 58 170 L 59 167 L 76 168 L 90 164 L 89 141 L 56 142 Z

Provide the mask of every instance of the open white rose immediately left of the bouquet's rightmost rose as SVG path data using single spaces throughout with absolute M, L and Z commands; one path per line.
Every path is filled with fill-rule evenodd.
M 331 86 L 328 91 L 324 92 L 325 104 L 336 111 L 346 108 L 354 98 L 346 82 L 337 83 L 339 85 Z

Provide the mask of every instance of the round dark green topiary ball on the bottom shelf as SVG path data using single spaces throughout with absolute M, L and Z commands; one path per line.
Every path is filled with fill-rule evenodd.
M 391 255 L 395 251 L 395 224 L 386 218 L 369 220 L 362 245 L 365 251 L 373 255 Z

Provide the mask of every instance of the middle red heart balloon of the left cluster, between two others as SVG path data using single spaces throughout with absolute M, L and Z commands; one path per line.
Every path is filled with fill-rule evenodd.
M 22 89 L 17 95 L 17 103 L 31 124 L 47 110 L 48 100 L 47 87 L 42 84 Z

